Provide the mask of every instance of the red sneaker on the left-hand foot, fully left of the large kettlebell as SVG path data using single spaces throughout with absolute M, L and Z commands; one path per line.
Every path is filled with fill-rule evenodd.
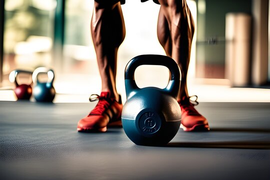
M 94 96 L 94 97 L 92 97 Z M 109 92 L 101 92 L 100 96 L 92 94 L 90 101 L 98 100 L 92 111 L 80 119 L 77 124 L 78 131 L 105 132 L 107 126 L 121 126 L 122 107 L 120 100 L 117 102 L 110 97 Z

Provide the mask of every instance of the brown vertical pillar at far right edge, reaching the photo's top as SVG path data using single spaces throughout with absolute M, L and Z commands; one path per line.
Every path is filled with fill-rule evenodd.
M 253 0 L 253 47 L 251 81 L 254 85 L 267 82 L 268 71 L 268 0 Z

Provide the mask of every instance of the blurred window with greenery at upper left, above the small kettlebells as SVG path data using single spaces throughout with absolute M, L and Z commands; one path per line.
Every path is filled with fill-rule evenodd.
M 15 68 L 51 64 L 56 0 L 5 0 L 3 84 Z

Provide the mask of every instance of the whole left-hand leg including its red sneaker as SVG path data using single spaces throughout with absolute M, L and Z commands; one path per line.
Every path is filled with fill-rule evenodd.
M 125 28 L 119 0 L 94 1 L 91 34 L 101 77 L 101 94 L 90 101 L 98 102 L 80 119 L 78 131 L 106 131 L 107 125 L 121 125 L 122 104 L 116 91 L 117 50 L 124 39 Z

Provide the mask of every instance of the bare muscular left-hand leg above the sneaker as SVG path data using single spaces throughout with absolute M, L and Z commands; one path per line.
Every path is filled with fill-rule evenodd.
M 120 2 L 99 4 L 94 1 L 91 34 L 101 76 L 101 91 L 109 91 L 118 100 L 115 85 L 117 51 L 125 36 Z

